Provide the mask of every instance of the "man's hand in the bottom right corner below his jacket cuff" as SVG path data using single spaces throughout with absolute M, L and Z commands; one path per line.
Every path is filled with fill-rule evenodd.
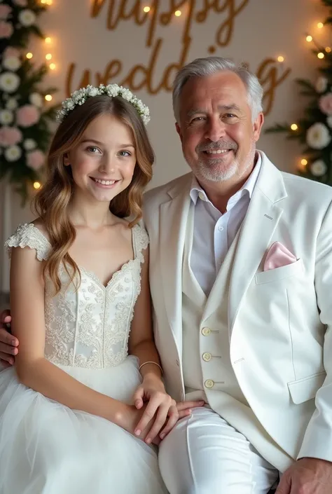
M 282 476 L 275 494 L 331 494 L 332 462 L 301 458 Z

